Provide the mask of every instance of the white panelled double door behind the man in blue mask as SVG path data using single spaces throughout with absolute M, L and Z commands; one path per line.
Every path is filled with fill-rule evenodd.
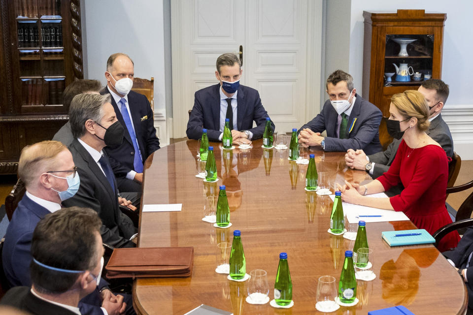
M 173 137 L 185 136 L 194 93 L 242 46 L 240 83 L 260 93 L 276 131 L 320 110 L 322 0 L 171 1 Z

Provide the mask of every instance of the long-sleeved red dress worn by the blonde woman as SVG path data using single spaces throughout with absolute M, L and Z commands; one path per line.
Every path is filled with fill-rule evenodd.
M 377 180 L 385 191 L 402 182 L 404 190 L 389 201 L 395 211 L 404 212 L 418 228 L 433 234 L 452 222 L 445 207 L 448 160 L 441 147 L 411 149 L 401 141 L 389 170 Z M 459 241 L 458 232 L 450 232 L 440 241 L 439 251 L 454 248 Z

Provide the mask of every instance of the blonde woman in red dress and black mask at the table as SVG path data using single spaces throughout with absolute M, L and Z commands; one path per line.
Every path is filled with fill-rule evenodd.
M 429 107 L 422 94 L 405 91 L 391 98 L 388 132 L 403 138 L 389 170 L 367 185 L 345 181 L 340 187 L 345 202 L 380 209 L 403 211 L 418 228 L 433 234 L 452 220 L 445 208 L 448 159 L 440 145 L 425 133 L 429 127 Z M 404 190 L 390 198 L 367 195 L 386 191 L 401 182 Z M 460 236 L 454 231 L 439 243 L 443 252 L 457 246 Z

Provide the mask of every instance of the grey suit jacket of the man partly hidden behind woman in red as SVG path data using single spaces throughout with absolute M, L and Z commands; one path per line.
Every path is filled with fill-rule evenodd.
M 433 121 L 430 122 L 429 129 L 427 129 L 426 133 L 445 151 L 447 157 L 453 156 L 453 140 L 452 135 L 450 133 L 450 129 L 448 128 L 447 123 L 442 119 L 442 115 L 439 114 Z M 378 152 L 368 156 L 370 158 L 370 162 L 374 162 L 374 169 L 373 169 L 373 178 L 378 178 L 379 176 L 383 175 L 384 172 L 387 172 L 389 166 L 393 162 L 394 158 L 396 157 L 396 152 L 398 151 L 399 144 L 401 143 L 402 139 L 394 139 L 386 149 L 386 151 Z

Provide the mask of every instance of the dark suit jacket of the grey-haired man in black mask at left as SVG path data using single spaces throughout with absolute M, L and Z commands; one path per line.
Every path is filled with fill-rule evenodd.
M 136 228 L 118 207 L 116 182 L 113 191 L 99 165 L 77 139 L 71 143 L 69 150 L 80 176 L 80 187 L 63 204 L 97 211 L 103 224 L 100 229 L 103 243 L 113 247 L 135 247 L 129 239 L 136 233 Z

